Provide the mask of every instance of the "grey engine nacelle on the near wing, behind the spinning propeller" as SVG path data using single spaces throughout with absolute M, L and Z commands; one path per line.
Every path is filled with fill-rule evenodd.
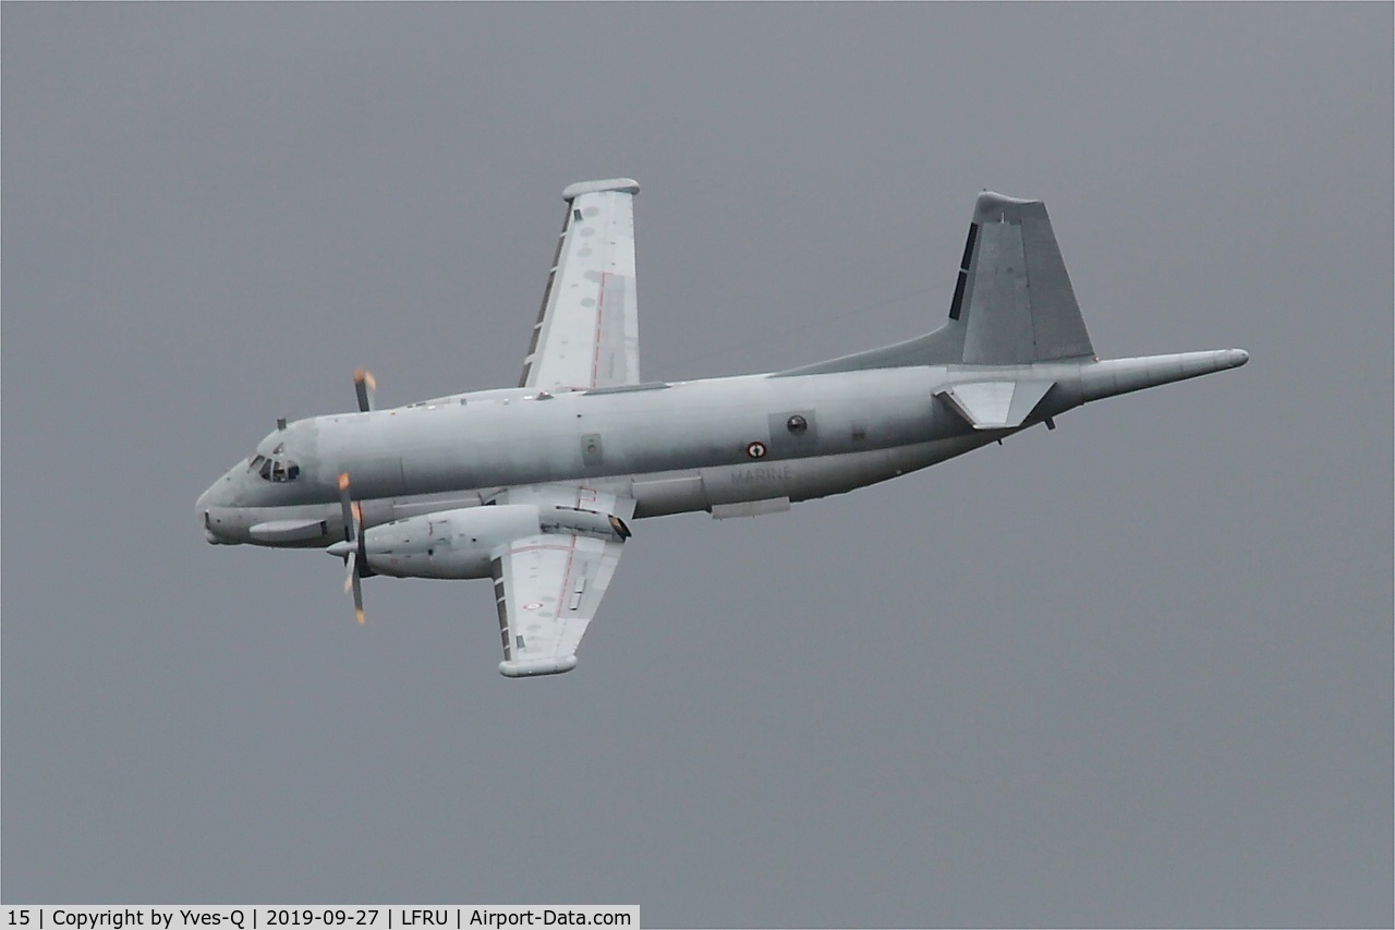
M 618 517 L 572 507 L 498 504 L 442 510 L 364 531 L 368 567 L 398 578 L 488 578 L 495 553 L 525 536 L 578 533 L 622 542 Z

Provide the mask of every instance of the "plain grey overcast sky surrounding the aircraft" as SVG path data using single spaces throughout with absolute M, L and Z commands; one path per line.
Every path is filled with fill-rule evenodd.
M 1388 924 L 1392 7 L 3 7 L 3 895 Z M 936 327 L 981 189 L 1239 370 L 488 585 L 204 542 L 276 416 L 512 384 L 633 176 L 649 378 Z

